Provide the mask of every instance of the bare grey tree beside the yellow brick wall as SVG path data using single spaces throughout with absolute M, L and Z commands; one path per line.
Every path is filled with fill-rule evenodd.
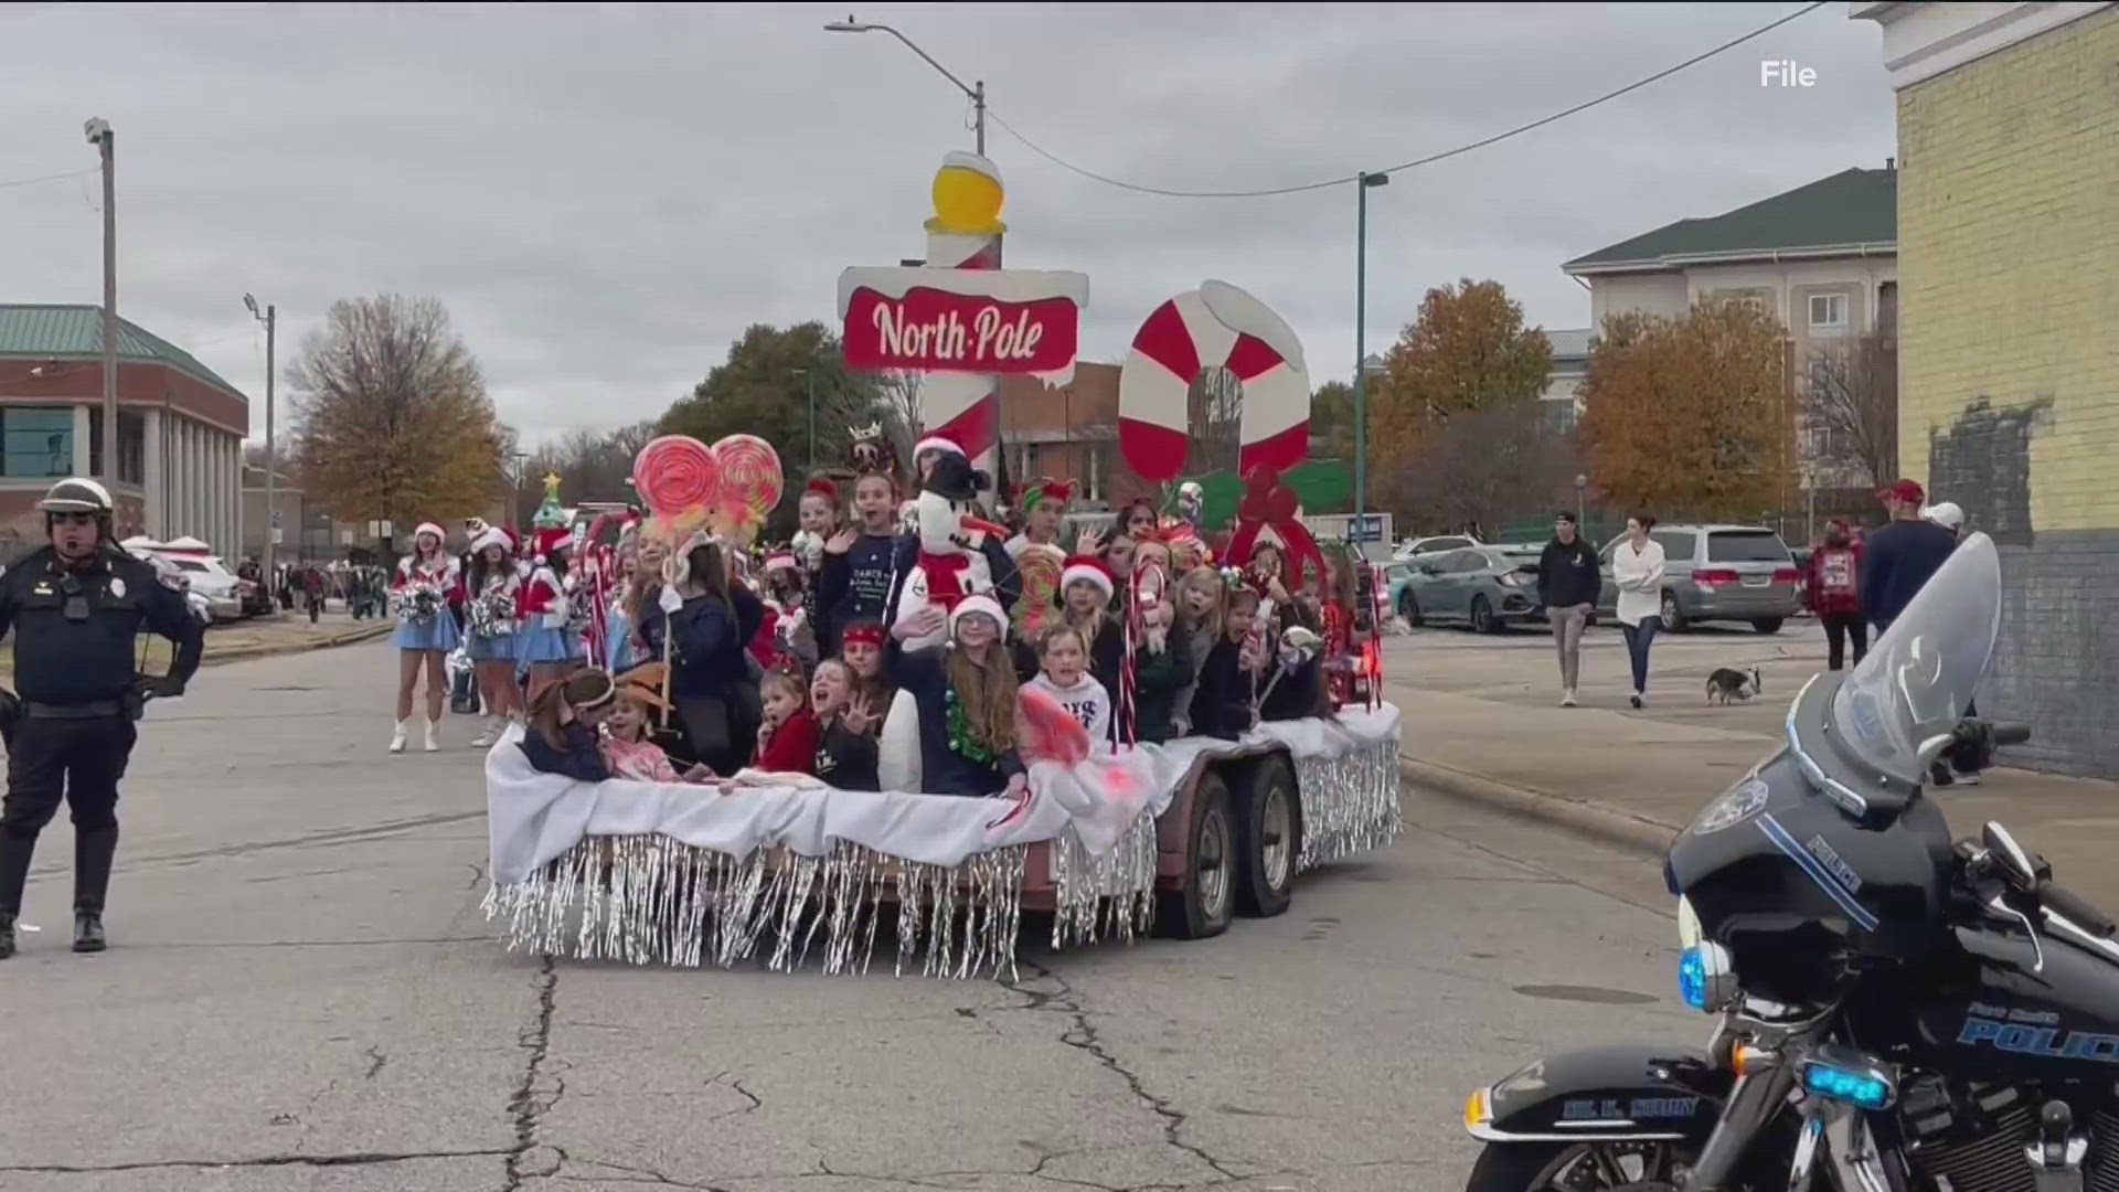
M 1810 356 L 1801 405 L 1812 488 L 1888 484 L 1899 475 L 1899 339 L 1890 325 Z

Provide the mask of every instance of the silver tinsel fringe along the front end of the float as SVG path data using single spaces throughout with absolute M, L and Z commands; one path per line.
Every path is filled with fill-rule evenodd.
M 898 976 L 1015 980 L 1026 853 L 943 867 L 843 840 L 829 857 L 737 859 L 667 836 L 591 836 L 530 880 L 492 887 L 483 910 L 511 952 L 793 971 L 820 948 L 826 974 L 867 974 L 894 891 Z

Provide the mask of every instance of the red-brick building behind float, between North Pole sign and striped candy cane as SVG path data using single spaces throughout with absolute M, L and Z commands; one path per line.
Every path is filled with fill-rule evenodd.
M 1000 380 L 1000 450 L 1009 479 L 1072 479 L 1076 501 L 1119 507 L 1153 488 L 1119 456 L 1119 365 L 1074 365 L 1074 380 L 1047 386 L 1028 375 Z

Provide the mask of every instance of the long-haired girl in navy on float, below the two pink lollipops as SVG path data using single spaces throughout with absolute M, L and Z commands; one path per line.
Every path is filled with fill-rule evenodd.
M 716 774 L 744 766 L 759 730 L 759 689 L 744 647 L 765 621 L 765 604 L 733 571 L 720 543 L 697 532 L 676 566 L 676 613 L 657 598 L 640 615 L 648 658 L 663 658 L 670 643 L 670 702 L 684 742 Z

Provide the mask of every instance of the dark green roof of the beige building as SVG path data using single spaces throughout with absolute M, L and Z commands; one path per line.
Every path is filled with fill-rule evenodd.
M 1608 271 L 1619 265 L 1672 267 L 1693 257 L 1820 252 L 1899 244 L 1899 172 L 1844 170 L 1784 195 L 1710 218 L 1680 218 L 1562 265 Z

